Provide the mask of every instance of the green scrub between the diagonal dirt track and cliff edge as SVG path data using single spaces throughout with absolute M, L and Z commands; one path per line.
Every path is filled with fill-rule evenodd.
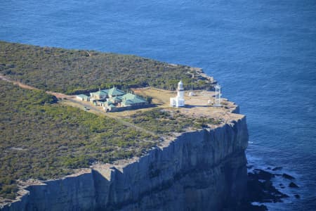
M 44 91 L 0 81 L 0 197 L 17 179 L 53 179 L 93 162 L 145 153 L 158 137 L 109 118 L 62 106 Z

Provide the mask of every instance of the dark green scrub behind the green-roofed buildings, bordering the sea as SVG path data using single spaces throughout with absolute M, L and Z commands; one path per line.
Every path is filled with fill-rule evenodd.
M 197 70 L 138 56 L 30 46 L 0 41 L 0 73 L 38 89 L 78 94 L 116 86 L 211 89 Z

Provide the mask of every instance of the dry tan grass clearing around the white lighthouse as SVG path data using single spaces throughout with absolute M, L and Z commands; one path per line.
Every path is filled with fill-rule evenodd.
M 142 89 L 133 89 L 135 94 L 139 94 L 141 96 L 150 96 L 152 97 L 152 103 L 154 106 L 167 109 L 167 110 L 179 110 L 180 113 L 186 115 L 187 117 L 209 117 L 221 119 L 224 122 L 228 122 L 230 120 L 236 120 L 240 116 L 231 113 L 232 110 L 235 110 L 236 105 L 227 99 L 222 99 L 223 106 L 213 107 L 212 103 L 214 102 L 214 92 L 213 91 L 195 91 L 195 96 L 188 96 L 189 91 L 185 92 L 185 107 L 184 108 L 171 108 L 169 106 L 170 98 L 176 96 L 176 91 L 168 91 L 164 89 L 154 89 L 154 88 L 142 88 Z M 211 101 L 211 103 L 209 103 Z M 83 109 L 84 106 L 90 108 L 87 110 L 88 112 L 95 113 L 97 115 L 102 115 L 104 113 L 103 109 L 100 107 L 93 106 L 92 103 L 84 102 L 84 101 L 63 101 L 63 103 L 68 106 L 74 106 L 77 108 Z M 138 111 L 145 112 L 147 110 L 151 110 L 152 108 L 140 108 L 137 110 L 125 110 L 121 112 L 111 112 L 104 113 L 108 117 L 112 118 L 124 118 L 130 117 L 134 115 Z

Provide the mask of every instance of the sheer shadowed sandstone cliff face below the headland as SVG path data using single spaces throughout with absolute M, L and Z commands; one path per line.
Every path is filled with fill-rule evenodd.
M 246 118 L 180 134 L 124 165 L 29 186 L 1 210 L 220 210 L 246 191 Z

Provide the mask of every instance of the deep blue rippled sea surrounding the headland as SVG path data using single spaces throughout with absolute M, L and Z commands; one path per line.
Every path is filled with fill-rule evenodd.
M 270 210 L 316 210 L 315 0 L 7 0 L 0 39 L 203 68 L 247 116 L 249 162 L 296 177 Z

